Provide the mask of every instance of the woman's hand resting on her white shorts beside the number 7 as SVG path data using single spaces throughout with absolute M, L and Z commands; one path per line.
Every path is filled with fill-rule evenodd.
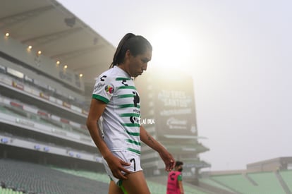
M 118 157 L 115 157 L 113 154 L 109 154 L 109 156 L 104 157 L 104 159 L 107 161 L 109 169 L 111 169 L 111 172 L 113 173 L 114 177 L 118 179 L 127 179 L 127 177 L 122 173 L 122 171 L 125 172 L 126 174 L 130 174 L 131 171 L 128 171 L 123 167 L 130 166 L 130 163 L 124 162 Z

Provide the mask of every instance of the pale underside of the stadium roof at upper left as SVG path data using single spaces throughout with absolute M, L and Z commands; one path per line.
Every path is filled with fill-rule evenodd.
M 55 0 L 0 0 L 0 31 L 42 51 L 85 83 L 109 68 L 115 47 Z M 82 2 L 82 1 L 80 1 Z

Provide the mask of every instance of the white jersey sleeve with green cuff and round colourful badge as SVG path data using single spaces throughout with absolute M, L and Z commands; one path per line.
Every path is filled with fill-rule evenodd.
M 99 75 L 93 88 L 92 98 L 108 104 L 114 94 L 114 84 L 108 75 Z

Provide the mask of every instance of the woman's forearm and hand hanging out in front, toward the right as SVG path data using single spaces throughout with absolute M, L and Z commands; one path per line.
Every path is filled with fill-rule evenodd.
M 163 147 L 159 142 L 157 142 L 157 140 L 147 133 L 143 126 L 140 126 L 140 139 L 143 143 L 159 153 L 160 157 L 164 161 L 166 171 L 171 171 L 174 169 L 174 157 L 172 157 L 171 153 L 169 153 L 165 147 Z

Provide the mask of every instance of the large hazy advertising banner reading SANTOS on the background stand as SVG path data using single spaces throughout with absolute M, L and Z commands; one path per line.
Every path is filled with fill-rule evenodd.
M 157 135 L 197 135 L 193 78 L 164 77 L 154 86 Z

